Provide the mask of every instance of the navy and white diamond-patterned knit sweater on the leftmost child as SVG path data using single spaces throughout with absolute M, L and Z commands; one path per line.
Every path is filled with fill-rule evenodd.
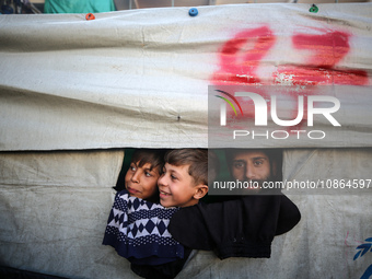
M 111 210 L 104 245 L 137 265 L 161 265 L 184 257 L 184 246 L 167 230 L 178 208 L 164 208 L 127 190 L 116 194 Z

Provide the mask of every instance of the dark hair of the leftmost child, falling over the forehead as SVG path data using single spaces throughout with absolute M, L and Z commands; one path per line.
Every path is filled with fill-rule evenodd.
M 161 174 L 164 166 L 164 154 L 165 151 L 162 149 L 137 149 L 131 156 L 131 162 L 138 163 L 140 167 L 150 163 L 150 171 L 158 167 Z

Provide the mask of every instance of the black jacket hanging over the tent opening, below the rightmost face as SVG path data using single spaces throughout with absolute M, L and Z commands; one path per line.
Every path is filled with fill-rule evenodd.
M 183 208 L 172 217 L 168 231 L 186 247 L 214 251 L 221 259 L 270 257 L 275 235 L 290 231 L 300 219 L 284 195 L 243 196 Z

